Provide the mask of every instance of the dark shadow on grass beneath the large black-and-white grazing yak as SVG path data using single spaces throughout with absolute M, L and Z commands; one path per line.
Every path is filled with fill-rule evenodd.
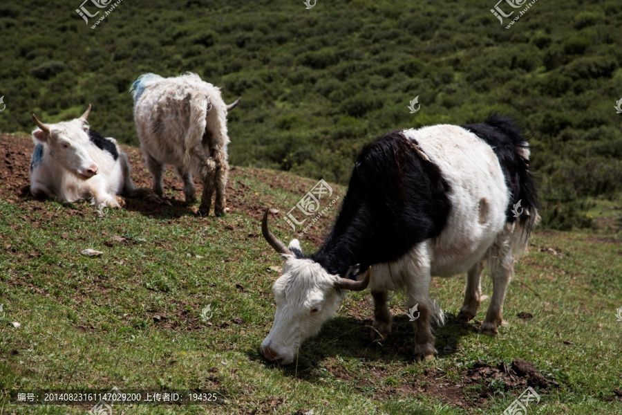
M 416 361 L 413 324 L 406 315 L 393 318 L 392 332 L 384 342 L 369 338 L 371 320 L 358 320 L 353 317 L 335 317 L 324 324 L 317 336 L 303 342 L 298 362 L 283 366 L 283 374 L 297 376 L 306 380 L 317 380 L 321 376 L 321 362 L 329 358 L 356 358 L 365 362 L 395 362 L 406 364 Z M 435 348 L 439 352 L 437 359 L 451 357 L 458 349 L 460 338 L 475 335 L 479 331 L 477 324 L 458 321 L 455 315 L 446 314 L 446 323 L 433 329 Z M 251 360 L 263 362 L 266 367 L 276 364 L 268 362 L 257 350 L 248 350 Z

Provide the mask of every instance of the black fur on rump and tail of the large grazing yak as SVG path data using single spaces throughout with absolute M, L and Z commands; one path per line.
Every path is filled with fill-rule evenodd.
M 505 214 L 506 221 L 508 223 L 516 221 L 517 218 L 512 210 L 514 205 L 520 201 L 521 208 L 529 212 L 529 215 L 520 214 L 518 220 L 529 234 L 536 220 L 538 192 L 536 192 L 536 185 L 529 170 L 529 160 L 518 153 L 518 149 L 529 147 L 522 131 L 511 118 L 500 116 L 498 113 L 494 113 L 482 124 L 468 124 L 460 127 L 475 133 L 495 152 L 505 176 L 505 183 L 511 192 Z

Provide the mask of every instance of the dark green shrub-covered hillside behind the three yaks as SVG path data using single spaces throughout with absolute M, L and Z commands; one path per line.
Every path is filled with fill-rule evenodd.
M 542 0 L 509 29 L 494 3 L 124 0 L 95 29 L 79 1 L 3 3 L 0 131 L 91 102 L 94 129 L 136 145 L 131 82 L 194 71 L 243 95 L 232 164 L 345 183 L 382 133 L 502 111 L 534 136 L 545 225 L 593 228 L 585 212 L 621 200 L 622 3 Z

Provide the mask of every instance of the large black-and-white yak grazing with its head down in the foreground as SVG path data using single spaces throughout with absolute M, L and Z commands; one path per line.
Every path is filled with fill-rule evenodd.
M 436 352 L 430 322 L 443 322 L 428 296 L 431 277 L 466 273 L 459 317 L 468 321 L 482 302 L 484 261 L 494 288 L 482 331 L 497 333 L 513 261 L 538 221 L 537 205 L 529 145 L 505 116 L 382 136 L 358 156 L 341 212 L 314 255 L 304 255 L 296 239 L 289 247 L 276 239 L 265 212 L 263 236 L 285 264 L 274 284 L 276 315 L 263 356 L 291 363 L 348 290 L 369 287 L 373 337 L 390 332 L 388 291 L 405 291 L 404 311 L 419 313 L 414 353 L 428 360 Z M 363 277 L 356 280 L 356 273 Z

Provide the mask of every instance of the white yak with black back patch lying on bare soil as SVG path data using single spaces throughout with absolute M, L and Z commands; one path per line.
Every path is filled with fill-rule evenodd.
M 127 156 L 114 138 L 104 138 L 88 127 L 91 105 L 80 118 L 44 124 L 35 114 L 35 150 L 30 159 L 30 192 L 35 197 L 63 202 L 87 200 L 100 207 L 120 208 L 137 190 Z

